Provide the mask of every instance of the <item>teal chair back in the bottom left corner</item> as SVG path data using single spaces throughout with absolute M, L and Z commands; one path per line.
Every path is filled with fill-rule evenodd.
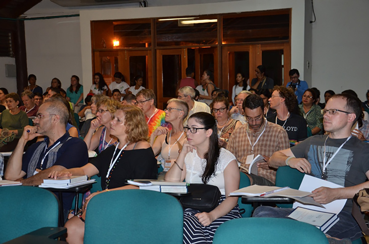
M 57 227 L 59 202 L 38 187 L 0 187 L 0 243 L 42 227 Z

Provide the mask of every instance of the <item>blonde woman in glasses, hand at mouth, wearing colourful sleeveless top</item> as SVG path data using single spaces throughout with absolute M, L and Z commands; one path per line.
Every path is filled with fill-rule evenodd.
M 91 121 L 89 132 L 83 139 L 88 150 L 94 151 L 98 148 L 99 153 L 107 147 L 118 143 L 117 137 L 110 135 L 110 122 L 120 102 L 113 99 L 102 100 L 97 103 L 97 118 Z

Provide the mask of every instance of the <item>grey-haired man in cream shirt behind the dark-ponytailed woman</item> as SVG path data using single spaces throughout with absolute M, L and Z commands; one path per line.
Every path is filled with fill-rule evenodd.
M 183 126 L 187 125 L 187 119 L 194 113 L 207 112 L 210 114 L 210 107 L 204 102 L 195 101 L 195 95 L 195 89 L 190 86 L 185 86 L 178 90 L 178 99 L 185 101 L 189 108 L 188 115 L 183 120 Z

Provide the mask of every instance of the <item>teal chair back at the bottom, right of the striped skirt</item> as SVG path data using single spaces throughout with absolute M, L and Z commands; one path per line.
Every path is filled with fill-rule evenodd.
M 328 244 L 317 227 L 292 219 L 240 218 L 221 224 L 213 244 Z

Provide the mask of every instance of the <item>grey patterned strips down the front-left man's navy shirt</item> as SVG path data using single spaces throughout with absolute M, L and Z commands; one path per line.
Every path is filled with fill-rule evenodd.
M 65 142 L 68 142 L 68 140 L 72 138 L 71 136 L 68 137 L 68 139 Z M 48 153 L 48 160 L 46 163 L 46 168 L 50 168 L 51 166 L 53 166 L 56 162 L 56 158 L 57 158 L 57 154 L 58 154 L 58 150 L 61 146 L 63 146 L 63 144 L 65 143 L 60 143 L 58 146 L 54 147 L 53 149 L 51 149 Z M 28 169 L 27 169 L 27 178 L 33 176 L 33 173 L 36 170 L 37 167 L 37 163 L 38 160 L 42 154 L 42 152 L 45 150 L 45 147 L 47 146 L 47 142 L 43 141 L 39 144 L 39 146 L 36 148 L 36 150 L 34 151 L 30 163 L 28 164 Z

